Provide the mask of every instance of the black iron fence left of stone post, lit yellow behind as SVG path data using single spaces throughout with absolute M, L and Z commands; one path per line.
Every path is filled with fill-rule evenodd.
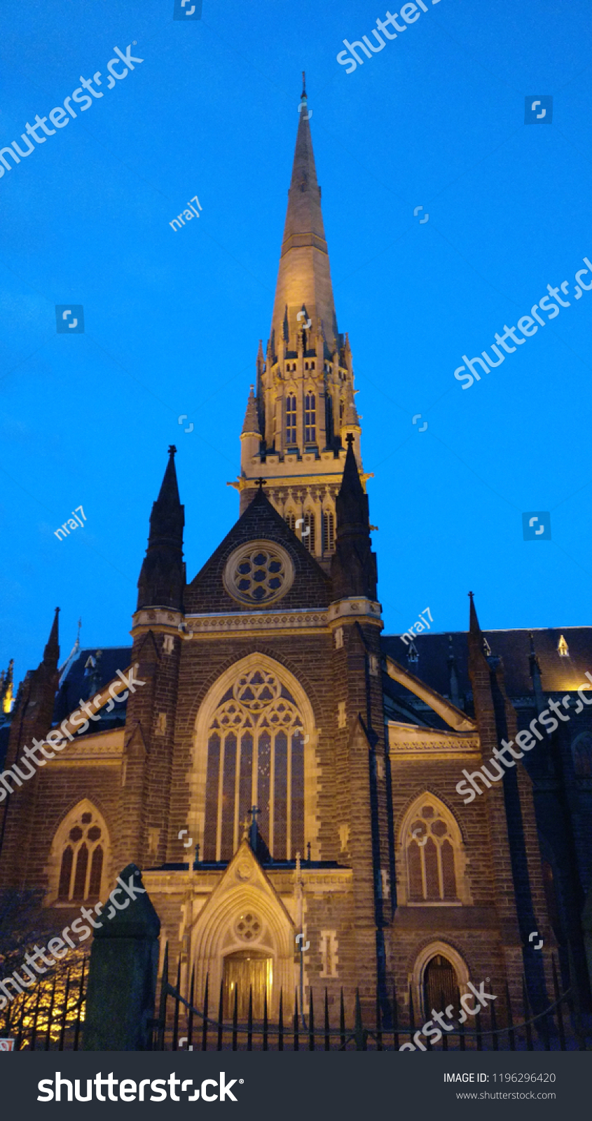
M 70 969 L 41 978 L 4 1009 L 0 1036 L 13 1039 L 15 1050 L 78 1050 L 87 975 L 87 958 L 82 957 Z

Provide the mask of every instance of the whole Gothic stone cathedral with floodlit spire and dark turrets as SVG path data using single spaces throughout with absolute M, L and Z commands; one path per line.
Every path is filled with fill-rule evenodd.
M 355 392 L 302 111 L 239 518 L 187 580 L 172 446 L 131 646 L 61 663 L 56 611 L 13 704 L 0 683 L 0 890 L 62 927 L 135 862 L 183 991 L 237 989 L 240 1017 L 249 988 L 277 1017 L 300 957 L 334 1007 L 395 986 L 423 1015 L 485 981 L 519 1003 L 525 975 L 539 1010 L 553 954 L 589 991 L 592 629 L 482 631 L 471 595 L 466 631 L 385 636 Z M 566 719 L 483 771 L 551 700 Z

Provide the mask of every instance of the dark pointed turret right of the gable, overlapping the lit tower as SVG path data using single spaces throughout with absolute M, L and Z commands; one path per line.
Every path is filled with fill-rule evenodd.
M 331 563 L 333 595 L 343 600 L 350 595 L 377 597 L 377 563 L 370 539 L 368 495 L 363 487 L 353 452 L 353 436 L 346 436 L 348 453 L 343 479 L 335 500 L 337 538 Z

